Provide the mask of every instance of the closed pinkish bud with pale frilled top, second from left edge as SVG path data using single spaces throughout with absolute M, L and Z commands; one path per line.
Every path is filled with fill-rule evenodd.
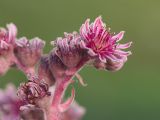
M 45 42 L 39 38 L 25 37 L 16 41 L 15 55 L 24 68 L 33 69 L 39 61 Z

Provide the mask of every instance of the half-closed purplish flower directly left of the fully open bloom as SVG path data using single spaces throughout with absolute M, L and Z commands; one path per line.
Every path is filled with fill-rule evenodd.
M 54 42 L 57 46 L 56 54 L 67 67 L 73 68 L 84 57 L 84 41 L 77 32 L 64 35 L 64 38 L 59 37 Z

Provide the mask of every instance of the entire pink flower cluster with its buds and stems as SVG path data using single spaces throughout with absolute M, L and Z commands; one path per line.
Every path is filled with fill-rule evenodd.
M 101 17 L 91 24 L 89 21 L 82 24 L 79 33 L 65 32 L 64 37 L 52 41 L 54 48 L 45 55 L 45 41 L 40 38 L 17 38 L 17 28 L 12 23 L 7 29 L 0 29 L 0 76 L 14 67 L 27 78 L 17 90 L 9 86 L 0 91 L 1 120 L 82 119 L 86 110 L 74 101 L 74 77 L 85 86 L 78 74 L 85 65 L 117 71 L 131 54 L 124 51 L 131 42 L 119 43 L 124 31 L 111 33 Z M 71 84 L 71 96 L 66 99 L 65 91 Z

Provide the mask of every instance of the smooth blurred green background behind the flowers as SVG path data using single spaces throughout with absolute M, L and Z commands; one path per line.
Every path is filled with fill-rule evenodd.
M 45 52 L 51 40 L 99 15 L 112 31 L 126 31 L 122 42 L 133 41 L 133 55 L 116 73 L 80 72 L 88 83 L 76 89 L 76 99 L 87 108 L 84 120 L 160 120 L 159 0 L 0 0 L 0 26 L 14 22 L 18 37 L 46 40 Z M 0 87 L 25 80 L 10 70 L 0 78 Z

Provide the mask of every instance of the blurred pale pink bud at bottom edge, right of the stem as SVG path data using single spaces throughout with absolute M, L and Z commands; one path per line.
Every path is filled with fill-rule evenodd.
M 71 107 L 63 113 L 62 120 L 81 120 L 86 110 L 80 106 L 77 102 L 73 102 Z

